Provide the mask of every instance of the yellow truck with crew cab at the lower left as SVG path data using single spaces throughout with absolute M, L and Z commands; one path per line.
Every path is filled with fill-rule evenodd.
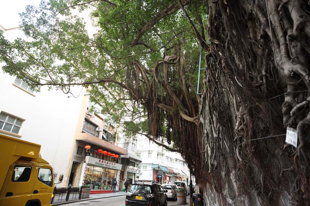
M 41 158 L 41 145 L 1 134 L 0 145 L 0 206 L 51 206 L 53 168 Z

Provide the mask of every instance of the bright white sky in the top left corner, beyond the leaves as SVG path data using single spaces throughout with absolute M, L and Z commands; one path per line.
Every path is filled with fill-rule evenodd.
M 38 6 L 41 0 L 0 0 L 0 25 L 5 29 L 18 27 L 19 12 L 25 11 L 26 5 Z

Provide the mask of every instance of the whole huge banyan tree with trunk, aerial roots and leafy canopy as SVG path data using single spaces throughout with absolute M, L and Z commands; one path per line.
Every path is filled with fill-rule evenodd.
M 308 1 L 50 0 L 20 15 L 29 38 L 0 35 L 2 70 L 89 88 L 125 132 L 180 152 L 206 205 L 309 205 Z

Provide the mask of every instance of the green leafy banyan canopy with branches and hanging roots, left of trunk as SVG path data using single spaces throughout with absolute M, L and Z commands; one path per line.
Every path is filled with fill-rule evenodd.
M 203 32 L 201 12 L 207 9 L 203 2 L 188 3 L 50 0 L 29 5 L 20 13 L 20 26 L 31 41 L 0 36 L 2 69 L 35 90 L 91 88 L 91 99 L 103 105 L 97 112 L 124 124 L 125 134 L 143 134 L 193 159 L 199 153 L 189 145 L 197 144 L 200 134 L 201 49 L 187 18 L 198 19 Z M 87 16 L 93 31 L 86 29 Z

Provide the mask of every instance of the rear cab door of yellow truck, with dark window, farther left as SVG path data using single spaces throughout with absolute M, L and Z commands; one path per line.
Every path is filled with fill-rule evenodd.
M 34 171 L 33 171 L 34 170 Z M 13 164 L 11 175 L 5 181 L 6 187 L 1 206 L 24 206 L 31 199 L 36 171 L 33 166 Z M 7 183 L 7 185 L 5 185 Z

